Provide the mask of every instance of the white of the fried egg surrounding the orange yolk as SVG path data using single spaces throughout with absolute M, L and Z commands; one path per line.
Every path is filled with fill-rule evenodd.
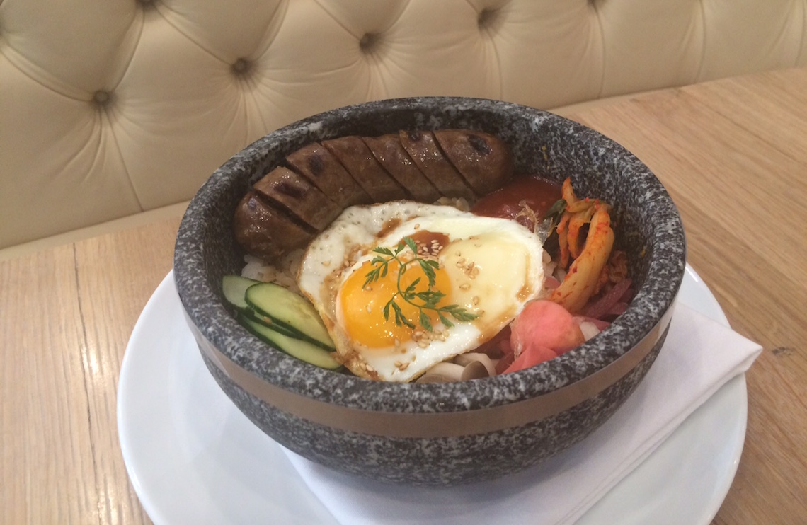
M 407 340 L 370 349 L 351 340 L 337 302 L 342 283 L 378 255 L 374 248 L 394 250 L 404 236 L 422 230 L 449 235 L 440 259 L 452 282 L 452 301 L 479 318 L 451 328 L 437 323 L 437 335 L 425 348 Z M 537 297 L 544 279 L 542 257 L 537 236 L 511 220 L 479 217 L 453 206 L 395 201 L 346 209 L 309 245 L 298 281 L 353 373 L 412 381 L 438 362 L 490 339 Z

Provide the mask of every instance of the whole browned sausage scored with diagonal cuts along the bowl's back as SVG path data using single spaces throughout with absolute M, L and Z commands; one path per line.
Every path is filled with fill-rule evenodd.
M 236 209 L 242 248 L 266 262 L 308 244 L 353 204 L 478 196 L 512 177 L 507 144 L 470 130 L 346 136 L 292 152 Z

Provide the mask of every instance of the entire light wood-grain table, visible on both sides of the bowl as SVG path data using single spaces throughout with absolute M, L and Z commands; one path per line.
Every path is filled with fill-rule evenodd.
M 807 69 L 693 85 L 573 118 L 644 160 L 684 217 L 689 262 L 763 344 L 748 430 L 714 523 L 807 523 Z M 0 523 L 148 522 L 115 393 L 179 218 L 0 262 Z

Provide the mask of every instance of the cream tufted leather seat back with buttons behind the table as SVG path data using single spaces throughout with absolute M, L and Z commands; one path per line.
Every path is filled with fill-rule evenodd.
M 807 0 L 2 0 L 0 248 L 190 198 L 320 110 L 807 64 Z

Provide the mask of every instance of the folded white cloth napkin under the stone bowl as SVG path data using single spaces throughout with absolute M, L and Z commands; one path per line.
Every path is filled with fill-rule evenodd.
M 283 451 L 340 523 L 574 523 L 761 351 L 679 303 L 659 357 L 611 419 L 558 456 L 494 481 L 386 485 Z

